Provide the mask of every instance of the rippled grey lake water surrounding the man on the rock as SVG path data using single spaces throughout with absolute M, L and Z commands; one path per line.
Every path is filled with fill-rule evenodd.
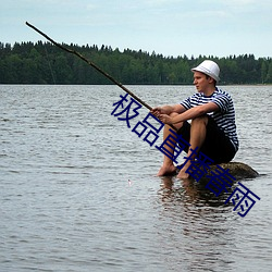
M 128 88 L 151 107 L 195 91 Z M 272 86 L 223 89 L 234 161 L 261 174 L 242 181 L 261 198 L 245 218 L 230 194 L 156 177 L 162 153 L 111 115 L 119 87 L 0 86 L 0 271 L 272 271 Z

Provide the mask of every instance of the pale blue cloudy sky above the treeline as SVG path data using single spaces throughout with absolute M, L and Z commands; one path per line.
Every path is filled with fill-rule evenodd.
M 0 0 L 0 41 L 46 39 L 164 57 L 272 57 L 271 0 Z

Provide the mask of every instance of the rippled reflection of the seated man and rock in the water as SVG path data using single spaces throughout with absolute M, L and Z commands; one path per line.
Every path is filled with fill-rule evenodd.
M 181 264 L 188 265 L 185 268 L 188 271 L 213 271 L 233 262 L 235 228 L 231 222 L 237 214 L 232 212 L 232 206 L 224 203 L 228 195 L 215 197 L 205 184 L 162 177 L 159 190 L 163 206 L 161 220 L 169 221 L 169 224 L 166 230 L 161 230 L 159 237 L 164 237 L 163 247 L 178 248 Z M 173 265 L 171 263 L 176 263 L 176 258 L 168 256 L 165 261 Z

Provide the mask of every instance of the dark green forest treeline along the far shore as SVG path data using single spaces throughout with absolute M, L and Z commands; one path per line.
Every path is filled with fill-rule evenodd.
M 66 45 L 64 45 L 66 46 Z M 66 46 L 91 60 L 123 84 L 191 84 L 190 69 L 205 59 L 218 62 L 221 84 L 271 84 L 272 58 L 254 54 L 197 58 L 163 57 L 154 52 L 102 46 Z M 0 42 L 0 84 L 110 84 L 79 58 L 50 42 Z

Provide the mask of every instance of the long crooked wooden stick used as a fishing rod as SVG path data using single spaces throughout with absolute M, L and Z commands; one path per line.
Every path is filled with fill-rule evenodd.
M 44 36 L 46 39 L 48 39 L 49 41 L 51 41 L 54 46 L 61 48 L 62 50 L 64 50 L 64 51 L 66 51 L 69 53 L 75 54 L 76 57 L 81 58 L 83 61 L 87 62 L 90 66 L 92 66 L 94 69 L 96 69 L 99 73 L 103 74 L 107 78 L 109 78 L 111 82 L 113 82 L 120 88 L 122 88 L 125 92 L 127 92 L 131 97 L 133 97 L 135 100 L 137 100 L 139 103 L 141 103 L 144 107 L 146 107 L 148 110 L 152 109 L 149 104 L 147 104 L 145 101 L 143 101 L 136 95 L 134 95 L 129 89 L 127 89 L 125 86 L 123 86 L 120 82 L 118 82 L 111 75 L 109 75 L 108 73 L 106 73 L 104 71 L 102 71 L 92 61 L 87 60 L 84 55 L 82 55 L 77 51 L 71 50 L 71 49 L 64 47 L 63 45 L 58 44 L 57 41 L 54 41 L 53 39 L 51 39 L 49 36 L 47 36 L 45 33 L 42 33 L 41 30 L 39 30 L 37 27 L 35 27 L 34 25 L 29 24 L 28 22 L 25 22 L 25 23 L 26 23 L 27 26 L 29 26 L 30 28 L 33 28 L 35 32 L 37 32 L 38 34 L 40 34 L 41 36 Z

